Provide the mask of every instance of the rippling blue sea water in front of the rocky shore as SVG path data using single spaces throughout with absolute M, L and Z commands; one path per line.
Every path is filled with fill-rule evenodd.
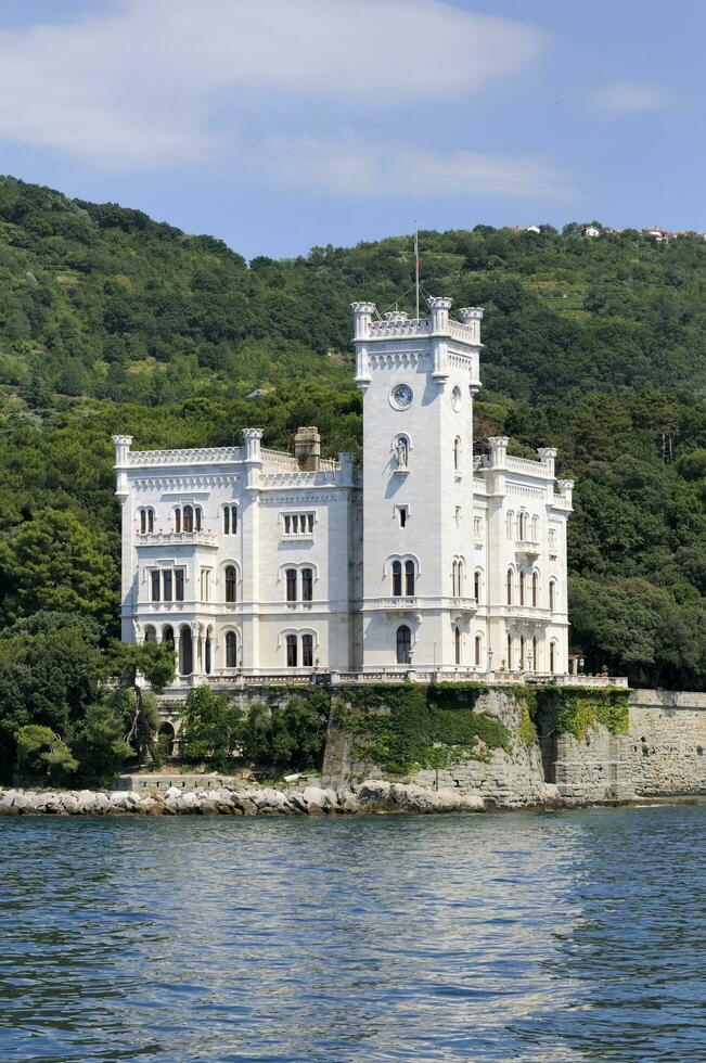
M 0 1058 L 704 1059 L 704 827 L 4 819 Z

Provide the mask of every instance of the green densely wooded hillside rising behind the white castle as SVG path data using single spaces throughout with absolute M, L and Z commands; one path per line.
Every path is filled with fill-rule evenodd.
M 478 447 L 557 446 L 577 481 L 574 645 L 591 670 L 704 687 L 706 244 L 550 227 L 421 243 L 426 290 L 486 309 Z M 408 238 L 248 266 L 137 210 L 0 179 L 0 717 L 35 681 L 17 662 L 53 637 L 49 614 L 64 640 L 77 612 L 91 644 L 117 632 L 111 434 L 204 446 L 257 424 L 285 447 L 318 424 L 326 451 L 358 450 L 348 304 L 386 309 L 412 269 Z

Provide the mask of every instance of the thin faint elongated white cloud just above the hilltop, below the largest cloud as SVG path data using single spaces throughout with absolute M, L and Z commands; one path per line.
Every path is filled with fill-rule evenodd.
M 441 154 L 395 142 L 372 145 L 355 133 L 331 140 L 271 137 L 257 154 L 282 183 L 346 195 L 572 195 L 563 174 L 531 156 Z

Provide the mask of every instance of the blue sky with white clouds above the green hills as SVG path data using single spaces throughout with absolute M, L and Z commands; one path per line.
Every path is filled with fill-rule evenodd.
M 251 258 L 706 229 L 697 0 L 0 0 L 0 172 Z

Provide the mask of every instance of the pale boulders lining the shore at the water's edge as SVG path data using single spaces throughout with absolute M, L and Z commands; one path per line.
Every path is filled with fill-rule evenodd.
M 270 787 L 151 791 L 0 790 L 0 816 L 341 816 L 482 812 L 482 797 L 369 780 L 350 789 Z

